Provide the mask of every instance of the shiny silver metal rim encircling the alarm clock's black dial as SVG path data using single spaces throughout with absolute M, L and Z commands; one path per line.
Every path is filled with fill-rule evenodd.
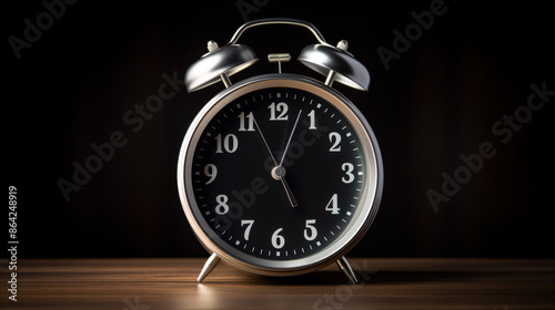
M 202 216 L 195 217 L 195 210 L 199 209 L 192 190 L 192 155 L 195 143 L 205 127 L 205 124 L 228 103 L 242 96 L 245 93 L 268 89 L 268 87 L 293 87 L 314 93 L 317 96 L 330 102 L 335 108 L 343 113 L 361 136 L 361 144 L 365 154 L 365 169 L 367 185 L 361 196 L 360 207 L 356 210 L 356 218 L 350 223 L 343 232 L 332 245 L 317 251 L 314 255 L 292 260 L 272 260 L 249 256 L 230 245 L 222 242 L 218 245 L 212 238 L 219 238 L 204 221 Z M 343 104 L 336 104 L 337 102 Z M 199 127 L 204 125 L 202 127 Z M 367 136 L 367 138 L 366 138 Z M 373 154 L 373 156 L 370 156 Z M 372 157 L 372 158 L 370 158 Z M 360 239 L 365 235 L 372 221 L 375 218 L 380 207 L 383 189 L 383 164 L 380 147 L 376 137 L 362 113 L 341 93 L 331 89 L 320 81 L 299 74 L 273 73 L 253 76 L 244 80 L 231 87 L 223 90 L 204 105 L 201 112 L 191 123 L 183 144 L 181 146 L 178 162 L 178 190 L 181 204 L 189 224 L 191 225 L 196 238 L 201 241 L 209 252 L 214 252 L 231 265 L 259 275 L 266 276 L 293 276 L 301 275 L 323 268 L 329 264 L 340 259 L 351 250 Z M 191 197 L 191 199 L 189 199 Z M 200 214 L 199 214 L 200 215 Z M 201 223 L 206 225 L 206 230 L 202 228 Z M 230 254 L 231 252 L 231 254 Z

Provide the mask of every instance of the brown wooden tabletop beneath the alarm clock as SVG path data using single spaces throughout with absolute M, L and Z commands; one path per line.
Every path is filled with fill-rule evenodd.
M 332 265 L 270 278 L 204 259 L 18 261 L 17 300 L 2 264 L 1 309 L 555 309 L 555 260 L 353 259 L 360 285 Z

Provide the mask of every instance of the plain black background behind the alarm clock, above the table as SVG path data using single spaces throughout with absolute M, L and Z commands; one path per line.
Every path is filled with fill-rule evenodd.
M 310 21 L 332 44 L 346 39 L 372 75 L 367 93 L 334 85 L 366 115 L 385 167 L 381 209 L 351 256 L 553 258 L 555 99 L 506 144 L 492 132 L 526 104 L 531 84 L 555 90 L 553 11 L 545 1 L 446 0 L 447 11 L 386 70 L 376 50 L 393 50 L 392 31 L 404 32 L 411 12 L 432 2 L 79 1 L 19 60 L 8 38 L 22 39 L 24 20 L 36 24 L 46 9 L 41 1 L 4 3 L 3 178 L 18 188 L 18 256 L 206 256 L 182 211 L 175 168 L 190 122 L 222 85 L 193 94 L 182 87 L 137 133 L 123 115 L 158 93 L 163 73 L 183 79 L 209 40 L 226 43 L 245 21 L 238 3 L 258 3 L 249 20 Z M 324 79 L 294 61 L 315 43 L 301 28 L 254 28 L 240 43 L 261 61 L 232 81 L 275 72 L 269 52 L 292 54 L 286 72 Z M 118 131 L 128 143 L 65 202 L 58 182 L 71 182 L 73 163 L 84 165 L 95 154 L 91 144 Z M 484 142 L 495 156 L 434 210 L 426 190 L 441 193 L 442 173 L 453 176 L 460 156 Z

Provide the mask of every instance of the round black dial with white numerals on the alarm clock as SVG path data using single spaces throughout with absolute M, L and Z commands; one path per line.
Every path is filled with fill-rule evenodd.
M 193 214 L 213 242 L 245 257 L 303 259 L 333 245 L 362 208 L 369 179 L 360 130 L 329 101 L 264 87 L 196 128 Z

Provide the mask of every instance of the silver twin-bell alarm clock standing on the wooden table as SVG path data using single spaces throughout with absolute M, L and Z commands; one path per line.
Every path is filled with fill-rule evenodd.
M 323 74 L 282 73 L 289 53 L 270 54 L 279 71 L 232 83 L 254 64 L 254 51 L 238 41 L 266 24 L 307 29 L 317 43 L 297 60 Z M 367 91 L 370 74 L 347 50 L 329 44 L 311 23 L 262 19 L 240 27 L 223 46 L 185 73 L 189 92 L 222 82 L 191 123 L 179 154 L 178 190 L 195 236 L 211 255 L 201 282 L 223 259 L 265 276 L 315 271 L 332 262 L 352 282 L 345 258 L 374 220 L 383 188 L 376 137 L 334 82 Z

